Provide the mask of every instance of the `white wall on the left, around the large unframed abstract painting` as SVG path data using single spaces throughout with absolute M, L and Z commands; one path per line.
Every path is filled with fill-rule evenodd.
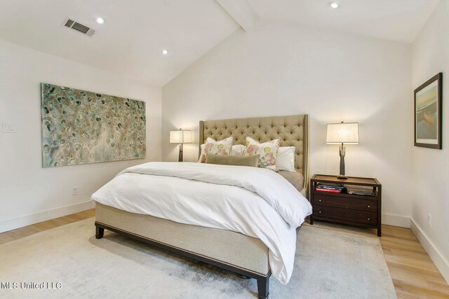
M 0 123 L 17 126 L 16 134 L 0 128 L 0 232 L 88 209 L 102 184 L 144 162 L 42 168 L 41 82 L 147 102 L 145 161 L 161 160 L 161 88 L 0 41 Z

